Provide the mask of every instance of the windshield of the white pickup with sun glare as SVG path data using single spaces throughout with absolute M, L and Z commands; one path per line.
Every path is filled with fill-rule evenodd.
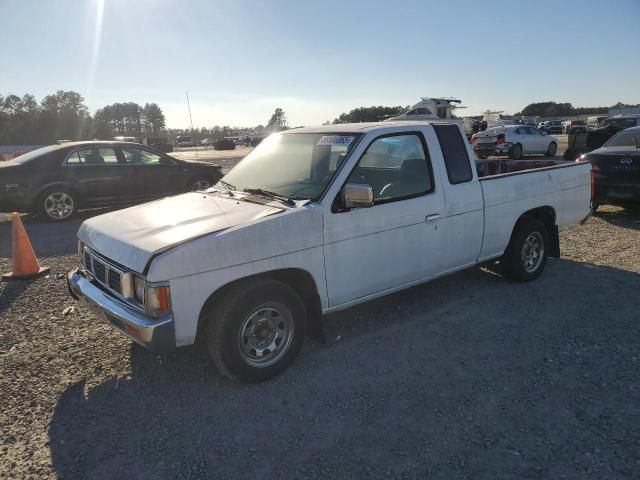
M 224 178 L 234 189 L 262 189 L 294 200 L 318 200 L 359 135 L 274 134 Z

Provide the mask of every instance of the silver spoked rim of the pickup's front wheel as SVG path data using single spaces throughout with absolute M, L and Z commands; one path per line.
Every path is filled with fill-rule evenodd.
M 242 322 L 238 333 L 240 354 L 254 367 L 276 363 L 289 349 L 293 338 L 293 317 L 287 307 L 270 302 L 254 310 Z

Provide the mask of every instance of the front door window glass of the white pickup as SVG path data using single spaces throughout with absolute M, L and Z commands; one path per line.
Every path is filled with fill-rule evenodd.
M 433 191 L 427 152 L 418 134 L 378 138 L 347 180 L 373 188 L 374 203 L 417 197 Z

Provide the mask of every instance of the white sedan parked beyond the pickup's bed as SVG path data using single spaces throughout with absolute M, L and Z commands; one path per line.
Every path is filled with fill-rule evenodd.
M 558 139 L 527 125 L 493 127 L 471 137 L 473 151 L 478 158 L 490 155 L 509 155 L 514 160 L 532 153 L 554 157 Z

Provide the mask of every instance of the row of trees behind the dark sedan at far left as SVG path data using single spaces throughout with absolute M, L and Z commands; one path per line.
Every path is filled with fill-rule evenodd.
M 164 128 L 164 114 L 155 103 L 114 103 L 91 116 L 82 95 L 74 91 L 58 90 L 40 102 L 31 94 L 0 95 L 0 145 L 154 136 Z

